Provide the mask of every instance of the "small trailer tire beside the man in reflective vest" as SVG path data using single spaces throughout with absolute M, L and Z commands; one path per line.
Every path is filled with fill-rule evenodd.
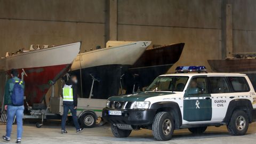
M 97 116 L 92 113 L 84 113 L 79 119 L 81 126 L 84 128 L 92 128 L 95 126 L 97 121 Z

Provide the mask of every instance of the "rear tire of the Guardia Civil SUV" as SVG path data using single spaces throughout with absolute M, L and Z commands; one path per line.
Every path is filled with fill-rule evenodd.
M 235 110 L 227 125 L 231 135 L 244 135 L 249 127 L 248 115 L 243 110 Z

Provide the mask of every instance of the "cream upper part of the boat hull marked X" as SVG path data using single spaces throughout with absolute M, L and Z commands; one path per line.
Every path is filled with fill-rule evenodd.
M 103 65 L 133 65 L 151 42 L 134 42 L 122 46 L 78 54 L 71 70 L 103 66 Z

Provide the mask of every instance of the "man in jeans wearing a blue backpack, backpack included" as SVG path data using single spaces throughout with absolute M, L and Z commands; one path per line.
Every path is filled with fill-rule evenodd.
M 23 131 L 23 111 L 24 111 L 24 89 L 25 83 L 18 78 L 18 71 L 16 69 L 11 70 L 11 78 L 6 82 L 4 93 L 4 105 L 7 110 L 7 125 L 6 135 L 2 138 L 5 141 L 11 140 L 12 124 L 14 117 L 17 121 L 17 141 L 21 143 L 22 131 Z

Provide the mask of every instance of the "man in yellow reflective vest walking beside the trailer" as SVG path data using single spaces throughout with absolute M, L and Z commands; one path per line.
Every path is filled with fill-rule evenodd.
M 76 109 L 77 109 L 77 77 L 71 76 L 69 81 L 62 88 L 63 96 L 63 115 L 61 119 L 61 133 L 68 133 L 65 129 L 68 111 L 71 111 L 73 122 L 76 127 L 76 132 L 79 133 L 83 130 L 78 124 Z

